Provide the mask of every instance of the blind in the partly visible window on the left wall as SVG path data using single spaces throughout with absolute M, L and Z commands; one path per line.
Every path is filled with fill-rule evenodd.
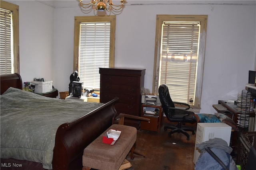
M 12 15 L 0 9 L 0 74 L 12 73 Z

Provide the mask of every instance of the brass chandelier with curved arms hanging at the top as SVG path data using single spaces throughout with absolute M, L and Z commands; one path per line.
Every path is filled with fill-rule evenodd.
M 114 10 L 120 10 L 123 7 L 124 0 L 120 0 L 120 5 L 114 5 L 112 3 L 112 0 L 91 0 L 88 4 L 82 3 L 83 0 L 79 0 L 80 5 L 83 8 L 89 8 L 90 6 L 93 6 L 94 11 L 110 11 L 111 8 Z M 108 8 L 106 6 L 109 6 Z

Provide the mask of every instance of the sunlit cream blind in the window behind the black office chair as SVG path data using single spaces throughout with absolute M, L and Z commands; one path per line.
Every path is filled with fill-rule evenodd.
M 195 98 L 200 22 L 162 23 L 159 84 L 166 84 L 173 101 Z

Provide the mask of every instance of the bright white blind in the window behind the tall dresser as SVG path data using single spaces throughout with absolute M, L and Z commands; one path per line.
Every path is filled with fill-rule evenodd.
M 85 88 L 100 89 L 100 67 L 109 66 L 110 22 L 80 23 L 79 77 Z

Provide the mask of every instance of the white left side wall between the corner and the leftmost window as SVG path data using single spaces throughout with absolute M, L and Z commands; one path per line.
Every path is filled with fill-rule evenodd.
M 20 74 L 23 81 L 34 77 L 52 80 L 54 8 L 36 1 L 8 1 L 19 5 Z

